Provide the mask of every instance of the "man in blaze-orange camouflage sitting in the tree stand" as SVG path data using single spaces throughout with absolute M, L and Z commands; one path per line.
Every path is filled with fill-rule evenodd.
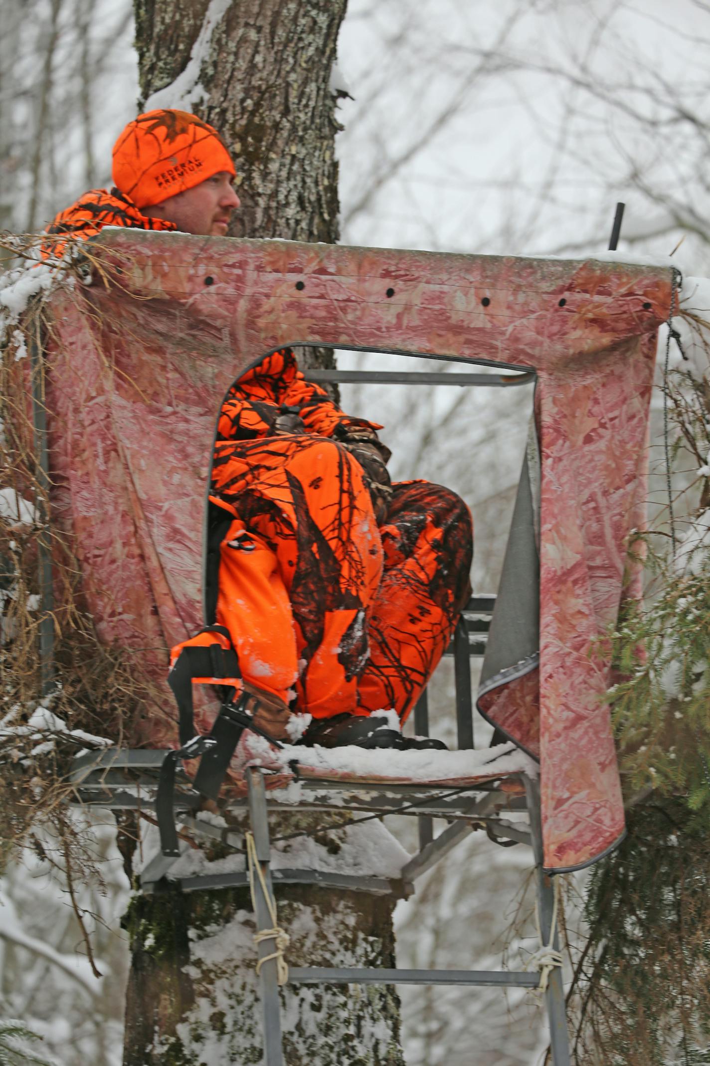
M 116 141 L 115 188 L 85 193 L 47 232 L 224 237 L 240 206 L 235 178 L 211 126 L 150 111 Z M 373 712 L 403 723 L 449 644 L 470 595 L 471 516 L 448 488 L 391 484 L 381 429 L 306 381 L 291 349 L 265 353 L 222 406 L 210 496 L 215 626 L 174 648 L 172 662 L 209 644 L 236 652 L 229 683 L 274 740 L 293 739 L 300 712 L 311 715 L 306 743 L 443 747 Z

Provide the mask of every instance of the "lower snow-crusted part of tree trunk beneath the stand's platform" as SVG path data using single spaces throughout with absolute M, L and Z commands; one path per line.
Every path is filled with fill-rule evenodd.
M 293 965 L 393 966 L 391 902 L 359 892 L 279 887 Z M 247 889 L 136 895 L 124 1066 L 262 1062 L 261 1006 Z M 288 1066 L 403 1066 L 391 986 L 281 989 Z

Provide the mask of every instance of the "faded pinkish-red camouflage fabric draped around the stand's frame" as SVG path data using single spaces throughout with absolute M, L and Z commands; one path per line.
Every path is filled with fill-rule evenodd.
M 539 759 L 546 867 L 612 847 L 624 809 L 599 637 L 640 595 L 628 548 L 645 522 L 673 272 L 138 230 L 92 248 L 109 282 L 95 272 L 49 304 L 53 520 L 74 538 L 100 639 L 165 692 L 132 742 L 176 743 L 167 648 L 203 621 L 215 421 L 241 373 L 300 344 L 532 369 L 535 434 L 479 707 Z M 213 710 L 200 713 L 204 727 Z

